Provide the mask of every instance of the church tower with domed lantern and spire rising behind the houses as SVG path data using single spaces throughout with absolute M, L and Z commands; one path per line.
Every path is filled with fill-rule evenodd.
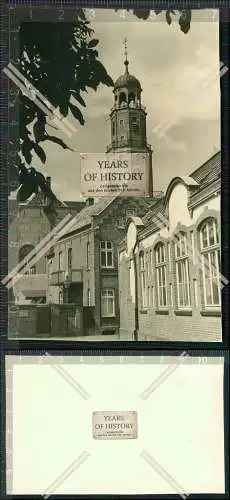
M 147 144 L 146 110 L 141 104 L 139 80 L 129 73 L 127 39 L 125 39 L 125 71 L 114 84 L 111 109 L 111 143 L 107 153 L 146 153 L 149 161 L 149 196 L 153 196 L 152 148 Z

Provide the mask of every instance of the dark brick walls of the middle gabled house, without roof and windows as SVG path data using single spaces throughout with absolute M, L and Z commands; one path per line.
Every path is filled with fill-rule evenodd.
M 94 219 L 93 227 L 81 233 L 66 237 L 55 244 L 52 272 L 58 271 L 59 252 L 63 253 L 63 270 L 68 269 L 68 248 L 72 248 L 72 269 L 83 272 L 83 307 L 94 308 L 96 329 L 119 327 L 119 290 L 118 290 L 118 243 L 125 235 L 126 210 L 136 207 L 135 199 L 120 199 L 109 207 L 106 213 Z M 142 209 L 143 210 L 143 209 Z M 124 218 L 124 220 L 123 220 Z M 123 226 L 118 221 L 122 219 Z M 113 242 L 113 268 L 101 268 L 100 242 Z M 89 243 L 87 265 L 87 243 Z M 101 317 L 101 290 L 113 289 L 115 293 L 115 316 Z M 90 301 L 89 299 L 90 293 Z M 49 301 L 59 302 L 59 286 L 49 286 Z M 91 311 L 92 312 L 92 311 Z

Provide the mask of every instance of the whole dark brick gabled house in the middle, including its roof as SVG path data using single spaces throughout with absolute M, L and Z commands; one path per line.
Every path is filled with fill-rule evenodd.
M 145 198 L 88 199 L 59 233 L 48 259 L 47 301 L 82 307 L 85 335 L 119 329 L 117 246 L 128 217 L 143 216 L 150 203 Z

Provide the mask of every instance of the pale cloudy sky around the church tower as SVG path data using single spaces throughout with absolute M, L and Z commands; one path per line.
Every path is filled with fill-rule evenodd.
M 99 60 L 113 80 L 124 72 L 123 42 L 128 40 L 129 72 L 141 82 L 147 111 L 153 188 L 165 191 L 173 177 L 188 175 L 220 149 L 220 62 L 218 11 L 193 11 L 186 35 L 177 17 L 169 26 L 162 14 L 142 21 L 132 12 L 123 19 L 120 11 L 98 9 L 92 27 L 99 39 Z M 112 90 L 100 85 L 96 92 L 82 93 L 87 107 L 79 107 L 85 125 L 68 116 L 77 131 L 71 137 L 58 133 L 74 152 L 47 144 L 46 165 L 34 159 L 35 168 L 51 176 L 61 200 L 81 199 L 80 153 L 104 153 L 111 141 Z M 164 137 L 158 127 L 165 122 L 170 125 Z

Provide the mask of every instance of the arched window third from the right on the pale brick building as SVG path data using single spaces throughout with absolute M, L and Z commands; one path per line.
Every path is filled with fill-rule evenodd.
M 157 278 L 157 303 L 158 307 L 168 306 L 167 271 L 165 245 L 158 243 L 155 247 L 155 265 Z

